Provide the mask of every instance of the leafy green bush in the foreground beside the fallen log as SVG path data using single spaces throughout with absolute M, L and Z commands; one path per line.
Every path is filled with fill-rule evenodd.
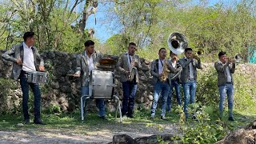
M 182 125 L 182 143 L 215 143 L 227 134 L 228 129 L 219 120 L 210 120 L 205 106 L 195 103 L 190 106 L 189 112 L 195 114 L 197 119 Z

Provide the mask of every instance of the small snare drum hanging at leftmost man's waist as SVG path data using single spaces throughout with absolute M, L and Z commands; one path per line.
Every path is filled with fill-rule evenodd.
M 26 82 L 47 83 L 48 74 L 46 72 L 40 72 L 40 71 L 26 72 Z

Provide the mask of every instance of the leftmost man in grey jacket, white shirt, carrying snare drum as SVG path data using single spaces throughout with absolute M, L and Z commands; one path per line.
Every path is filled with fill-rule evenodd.
M 25 124 L 30 123 L 28 113 L 29 86 L 34 93 L 34 123 L 44 125 L 40 116 L 41 92 L 38 83 L 26 82 L 26 73 L 31 71 L 44 71 L 43 59 L 38 54 L 34 46 L 34 32 L 26 32 L 23 35 L 24 42 L 13 46 L 2 58 L 14 62 L 12 77 L 14 80 L 20 79 L 22 87 L 22 112 L 24 114 Z

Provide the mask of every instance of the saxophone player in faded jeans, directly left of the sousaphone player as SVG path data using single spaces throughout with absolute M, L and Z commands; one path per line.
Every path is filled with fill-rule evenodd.
M 151 119 L 154 119 L 155 116 L 155 110 L 157 109 L 158 106 L 158 99 L 160 97 L 160 93 L 162 93 L 162 111 L 161 111 L 161 119 L 162 120 L 167 120 L 165 117 L 166 114 L 166 102 L 167 102 L 167 97 L 169 94 L 170 90 L 170 73 L 177 73 L 178 69 L 175 69 L 166 61 L 166 48 L 161 48 L 158 51 L 159 58 L 155 59 L 151 63 L 151 68 L 150 68 L 150 74 L 153 76 L 153 84 L 154 84 L 154 99 L 152 102 L 152 107 L 151 107 Z M 167 62 L 167 63 L 166 63 Z M 165 65 L 167 66 L 167 69 L 170 70 L 170 73 L 167 72 L 167 75 L 164 75 L 165 73 Z M 160 79 L 162 77 L 167 77 L 166 81 L 162 82 Z

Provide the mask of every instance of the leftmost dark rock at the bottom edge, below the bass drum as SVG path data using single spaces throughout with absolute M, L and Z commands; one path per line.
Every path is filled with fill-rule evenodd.
M 126 134 L 114 135 L 113 144 L 136 144 L 133 138 Z

